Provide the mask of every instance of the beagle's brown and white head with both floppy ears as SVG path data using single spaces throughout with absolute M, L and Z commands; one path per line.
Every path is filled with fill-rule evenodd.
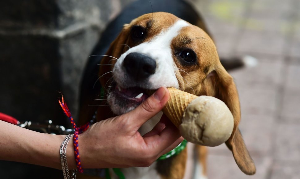
M 236 86 L 202 29 L 169 13 L 142 15 L 124 25 L 106 55 L 101 61 L 100 81 L 115 114 L 143 102 L 148 97 L 145 89 L 161 86 L 219 98 L 234 116 L 234 130 L 226 145 L 244 173 L 255 173 L 238 130 L 241 113 Z

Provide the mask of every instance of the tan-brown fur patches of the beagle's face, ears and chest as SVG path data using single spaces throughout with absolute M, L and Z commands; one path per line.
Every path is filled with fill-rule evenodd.
M 121 33 L 111 44 L 106 55 L 119 58 L 122 53 L 128 50 L 128 47 L 124 46 L 123 44 L 127 44 L 130 47 L 138 45 L 135 44 L 133 40 L 131 40 L 130 31 L 133 25 L 139 24 L 146 28 L 150 28 L 149 26 L 151 25 L 151 31 L 147 35 L 147 38 L 143 41 L 145 42 L 151 40 L 151 38 L 154 35 L 158 34 L 162 29 L 167 29 L 168 27 L 170 27 L 177 20 L 178 18 L 176 16 L 163 12 L 142 15 L 139 18 L 134 19 L 130 24 L 124 25 Z M 199 24 L 202 26 L 202 29 L 193 25 L 183 27 L 179 35 L 172 41 L 173 46 L 176 46 L 177 44 L 182 44 L 182 39 L 184 39 L 185 36 L 195 39 L 185 45 L 189 48 L 193 48 L 196 46 L 196 55 L 199 58 L 198 66 L 184 66 L 175 60 L 177 67 L 179 69 L 182 69 L 175 72 L 179 83 L 179 89 L 192 94 L 196 94 L 198 96 L 214 96 L 225 102 L 234 116 L 234 130 L 230 138 L 225 143 L 227 147 L 232 151 L 234 159 L 242 172 L 248 175 L 252 175 L 256 170 L 255 165 L 253 160 L 251 159 L 251 156 L 249 155 L 249 152 L 246 149 L 246 146 L 242 139 L 242 135 L 238 129 L 238 124 L 241 119 L 241 112 L 236 86 L 234 84 L 233 78 L 221 65 L 216 47 L 212 39 L 209 37 L 205 26 L 202 22 L 199 22 Z M 114 65 L 116 61 L 111 59 L 112 58 L 110 57 L 104 57 L 101 61 L 101 64 Z M 102 86 L 106 86 L 109 83 L 108 80 L 112 77 L 111 73 L 108 73 L 112 70 L 112 68 L 109 67 L 110 66 L 100 66 L 99 75 L 103 75 L 100 78 Z M 101 115 L 98 115 L 97 119 L 103 120 L 111 117 L 112 114 L 107 116 L 103 115 L 105 113 L 107 114 L 107 110 L 107 107 L 99 107 L 98 114 Z M 198 151 L 200 160 L 206 160 L 206 149 L 204 147 L 199 147 Z M 176 157 L 176 160 L 173 160 L 171 162 L 170 173 L 168 175 L 162 176 L 162 178 L 182 178 L 184 174 L 185 163 L 186 151 L 179 154 Z M 202 161 L 202 163 L 205 163 L 205 161 Z M 204 165 L 204 170 L 205 168 L 206 166 Z M 183 169 L 183 171 L 181 169 Z

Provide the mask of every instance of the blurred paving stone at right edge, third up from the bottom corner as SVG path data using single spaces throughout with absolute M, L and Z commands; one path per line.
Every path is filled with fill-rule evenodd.
M 292 122 L 292 123 L 300 123 L 300 93 L 285 91 L 283 94 L 283 102 L 281 112 L 281 121 L 282 122 Z M 300 139 L 299 139 L 300 140 Z

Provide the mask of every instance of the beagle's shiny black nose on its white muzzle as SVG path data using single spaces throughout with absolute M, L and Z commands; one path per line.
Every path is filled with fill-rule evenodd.
M 156 62 L 144 54 L 132 52 L 126 55 L 123 66 L 133 79 L 141 81 L 155 73 Z

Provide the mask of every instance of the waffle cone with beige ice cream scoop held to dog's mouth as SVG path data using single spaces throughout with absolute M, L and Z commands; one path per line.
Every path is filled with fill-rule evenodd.
M 229 139 L 234 118 L 221 100 L 212 96 L 196 96 L 176 88 L 168 88 L 170 98 L 163 112 L 189 142 L 214 147 Z

